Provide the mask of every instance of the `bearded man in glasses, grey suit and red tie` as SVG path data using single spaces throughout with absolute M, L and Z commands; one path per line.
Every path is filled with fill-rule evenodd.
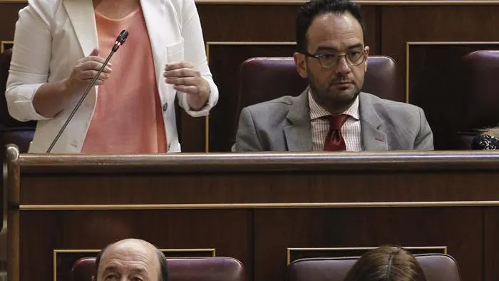
M 309 88 L 243 108 L 233 150 L 433 150 L 421 108 L 361 93 L 369 46 L 358 4 L 309 1 L 296 29 L 294 62 Z

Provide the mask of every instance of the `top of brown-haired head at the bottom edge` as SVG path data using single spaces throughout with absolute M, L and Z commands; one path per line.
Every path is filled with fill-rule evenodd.
M 344 281 L 426 281 L 416 258 L 401 247 L 381 246 L 367 251 Z

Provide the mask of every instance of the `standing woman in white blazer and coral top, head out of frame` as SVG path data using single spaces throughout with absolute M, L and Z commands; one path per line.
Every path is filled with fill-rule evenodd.
M 46 152 L 123 29 L 127 41 L 52 152 L 180 152 L 175 96 L 194 117 L 217 103 L 194 0 L 28 2 L 6 99 L 12 117 L 38 121 L 29 152 Z

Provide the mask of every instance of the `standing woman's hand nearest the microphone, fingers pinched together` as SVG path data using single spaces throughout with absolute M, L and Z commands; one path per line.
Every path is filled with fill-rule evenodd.
M 66 87 L 68 88 L 68 91 L 73 93 L 80 92 L 84 91 L 88 87 L 106 61 L 104 58 L 98 56 L 98 54 L 98 48 L 94 48 L 89 56 L 80 58 L 76 61 L 76 65 L 73 67 L 71 76 L 69 76 L 66 80 Z M 106 80 L 108 80 L 112 67 L 111 63 L 108 63 L 97 78 L 96 85 L 102 85 L 106 82 Z

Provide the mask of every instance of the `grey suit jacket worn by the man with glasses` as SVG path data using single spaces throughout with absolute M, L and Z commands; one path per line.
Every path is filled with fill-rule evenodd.
M 312 151 L 308 88 L 243 108 L 235 151 Z M 433 150 L 433 133 L 421 108 L 359 93 L 364 150 Z

